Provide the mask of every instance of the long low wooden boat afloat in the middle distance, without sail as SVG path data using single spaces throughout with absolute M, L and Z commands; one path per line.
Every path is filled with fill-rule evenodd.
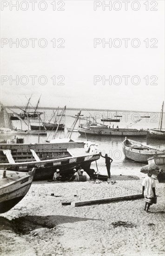
M 83 128 L 79 127 L 78 132 L 81 135 L 97 135 L 97 136 L 117 136 L 117 137 L 144 137 L 147 135 L 147 131 L 141 129 L 130 129 L 130 128 L 101 128 L 101 127 L 90 127 Z

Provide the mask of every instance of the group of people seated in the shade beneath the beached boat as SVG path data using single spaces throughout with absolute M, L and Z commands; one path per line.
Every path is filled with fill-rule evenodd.
M 97 175 L 96 173 L 94 173 L 93 175 Z M 90 180 L 90 176 L 86 173 L 86 171 L 84 171 L 84 169 L 82 169 L 81 167 L 79 167 L 78 171 L 76 170 L 76 168 L 73 169 L 73 174 L 69 177 L 68 181 L 72 182 L 79 182 L 81 181 L 81 177 L 82 176 L 86 176 L 86 181 Z M 53 181 L 66 181 L 67 179 L 60 175 L 60 171 L 59 169 L 56 170 L 56 172 L 53 174 Z

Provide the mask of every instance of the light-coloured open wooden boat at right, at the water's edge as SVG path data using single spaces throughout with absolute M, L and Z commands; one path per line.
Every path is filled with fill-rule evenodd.
M 123 152 L 125 158 L 132 159 L 135 162 L 148 162 L 148 158 L 154 156 L 155 154 L 165 154 L 164 150 L 159 150 L 157 148 L 152 148 L 149 146 L 145 146 L 137 141 L 132 141 L 129 139 L 125 139 L 122 143 Z

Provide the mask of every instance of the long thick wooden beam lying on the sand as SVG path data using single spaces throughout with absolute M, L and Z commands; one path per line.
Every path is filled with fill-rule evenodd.
M 93 200 L 87 200 L 87 201 L 72 202 L 71 206 L 83 206 L 83 205 L 109 203 L 109 202 L 117 202 L 117 201 L 125 201 L 125 200 L 136 200 L 140 198 L 143 198 L 142 194 L 119 196 L 119 197 L 106 197 L 106 198 L 99 198 L 99 199 L 93 199 Z

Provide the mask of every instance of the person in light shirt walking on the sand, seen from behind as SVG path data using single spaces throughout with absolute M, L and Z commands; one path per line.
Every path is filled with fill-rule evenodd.
M 145 197 L 145 209 L 149 212 L 150 205 L 152 205 L 152 198 L 156 197 L 155 194 L 155 180 L 151 177 L 152 174 L 148 172 L 147 177 L 142 182 L 143 191 L 142 194 Z

